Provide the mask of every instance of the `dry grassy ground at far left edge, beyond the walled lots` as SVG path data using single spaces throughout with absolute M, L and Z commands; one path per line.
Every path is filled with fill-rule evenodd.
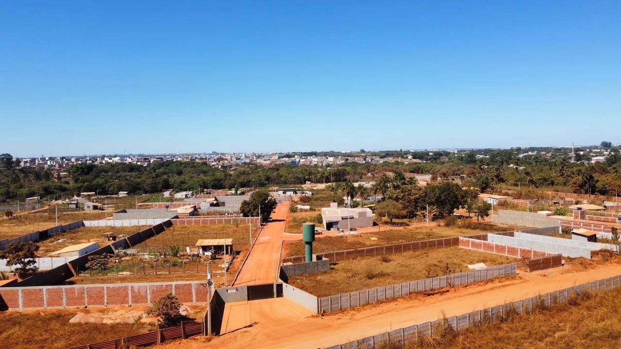
M 106 212 L 58 212 L 58 224 L 68 224 L 76 220 L 96 220 L 105 216 Z M 55 212 L 22 214 L 11 217 L 11 219 L 0 219 L 0 239 L 19 237 L 49 229 L 55 225 Z

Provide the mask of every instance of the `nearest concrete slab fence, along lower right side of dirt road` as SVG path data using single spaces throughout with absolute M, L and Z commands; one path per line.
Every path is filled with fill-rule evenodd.
M 510 315 L 524 314 L 537 307 L 550 307 L 553 304 L 568 302 L 571 298 L 581 295 L 583 292 L 609 291 L 621 288 L 621 276 L 592 281 L 591 283 L 573 286 L 571 288 L 560 289 L 548 292 L 540 296 L 522 299 L 520 301 L 508 302 L 495 307 L 483 310 L 474 310 L 466 314 L 451 316 L 445 319 L 438 319 L 424 322 L 419 325 L 403 327 L 389 332 L 379 333 L 360 340 L 333 345 L 326 349 L 374 349 L 386 347 L 405 347 L 420 343 L 425 337 L 431 337 L 438 333 L 440 325 L 449 325 L 450 329 L 461 331 L 469 327 L 477 327 L 491 321 L 504 321 Z

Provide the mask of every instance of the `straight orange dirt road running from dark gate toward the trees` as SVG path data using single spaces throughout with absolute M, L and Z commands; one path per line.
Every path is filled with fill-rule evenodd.
M 271 215 L 274 221 L 265 224 L 259 233 L 233 286 L 269 284 L 275 281 L 289 204 L 291 202 L 283 202 L 276 206 L 276 212 Z

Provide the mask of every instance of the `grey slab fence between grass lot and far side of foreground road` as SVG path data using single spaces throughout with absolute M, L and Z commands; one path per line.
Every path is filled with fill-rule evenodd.
M 437 276 L 435 278 L 420 279 L 409 283 L 400 283 L 378 288 L 364 289 L 333 296 L 319 298 L 319 313 L 335 312 L 357 306 L 375 304 L 388 299 L 404 297 L 417 292 L 432 291 L 447 287 L 455 287 L 478 283 L 479 281 L 499 278 L 501 276 L 517 274 L 517 264 L 510 263 L 492 266 L 481 270 L 465 271 L 463 273 Z

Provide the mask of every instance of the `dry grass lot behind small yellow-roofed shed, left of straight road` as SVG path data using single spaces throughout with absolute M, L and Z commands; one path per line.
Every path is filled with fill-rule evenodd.
M 138 252 L 154 253 L 179 245 L 181 253 L 185 253 L 186 247 L 194 249 L 196 241 L 201 238 L 232 238 L 233 248 L 239 251 L 249 246 L 249 233 L 248 224 L 173 225 L 166 232 L 138 243 L 134 248 Z M 256 229 L 253 229 L 252 233 L 253 237 L 256 237 Z

